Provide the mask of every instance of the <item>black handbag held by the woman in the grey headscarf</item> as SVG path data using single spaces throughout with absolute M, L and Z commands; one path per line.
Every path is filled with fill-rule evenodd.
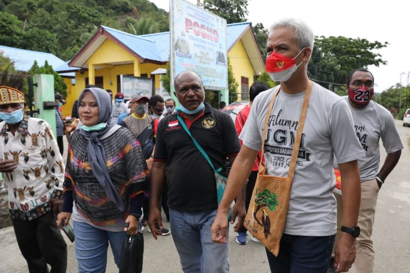
M 121 249 L 121 262 L 119 273 L 142 272 L 142 259 L 144 258 L 144 235 L 128 236 Z

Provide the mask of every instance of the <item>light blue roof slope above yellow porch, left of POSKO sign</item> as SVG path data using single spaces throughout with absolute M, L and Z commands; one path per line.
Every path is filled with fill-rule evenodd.
M 163 59 L 161 57 L 156 43 L 153 40 L 105 26 L 101 27 L 142 58 L 156 61 L 168 61 L 168 59 Z

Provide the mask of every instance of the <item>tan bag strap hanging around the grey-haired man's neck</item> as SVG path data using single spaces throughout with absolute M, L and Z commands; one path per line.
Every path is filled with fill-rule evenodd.
M 304 95 L 303 99 L 303 104 L 302 104 L 302 111 L 300 113 L 299 117 L 299 123 L 298 123 L 298 130 L 296 131 L 296 138 L 295 138 L 295 143 L 293 145 L 292 149 L 292 157 L 291 157 L 291 164 L 289 166 L 289 172 L 288 172 L 288 178 L 293 180 L 293 176 L 295 175 L 295 169 L 296 169 L 296 160 L 299 154 L 299 147 L 300 147 L 300 141 L 302 138 L 302 133 L 303 133 L 303 126 L 304 126 L 304 121 L 306 119 L 306 113 L 308 113 L 308 106 L 309 106 L 309 99 L 312 94 L 312 87 L 313 87 L 313 81 L 309 80 L 308 82 L 308 87 L 306 88 L 306 93 Z M 265 122 L 263 124 L 263 137 L 262 137 L 262 156 L 264 156 L 264 151 L 263 148 L 265 146 L 265 139 L 268 133 L 268 122 L 269 118 L 271 116 L 271 112 L 275 103 L 275 98 L 277 94 L 279 93 L 280 88 L 274 93 L 271 99 L 271 103 L 269 104 L 268 112 L 265 117 Z M 262 160 L 259 163 L 259 169 L 260 165 L 262 164 Z M 266 169 L 264 169 L 266 172 Z

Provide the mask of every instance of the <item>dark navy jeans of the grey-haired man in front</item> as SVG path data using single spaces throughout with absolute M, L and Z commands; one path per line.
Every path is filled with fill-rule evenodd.
M 266 249 L 269 267 L 275 273 L 326 273 L 335 235 L 297 236 L 283 234 L 278 257 Z

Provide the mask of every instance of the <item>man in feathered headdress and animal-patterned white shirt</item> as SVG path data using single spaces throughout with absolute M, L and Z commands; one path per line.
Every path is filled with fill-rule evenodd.
M 17 243 L 31 272 L 66 272 L 67 244 L 56 226 L 64 163 L 50 125 L 24 115 L 24 80 L 0 74 L 0 172 Z M 59 167 L 63 166 L 63 168 Z

